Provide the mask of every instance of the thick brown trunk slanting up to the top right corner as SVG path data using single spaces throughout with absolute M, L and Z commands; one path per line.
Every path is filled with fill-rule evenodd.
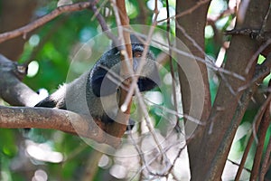
M 239 21 L 238 18 L 236 28 L 260 29 L 268 7 L 269 1 L 251 0 L 244 22 Z M 244 92 L 243 90 L 238 91 L 238 88 L 248 84 L 255 72 L 257 60 L 249 67 L 248 73 L 246 73 L 246 69 L 251 57 L 257 52 L 257 48 L 257 41 L 247 35 L 237 34 L 233 35 L 231 39 L 228 58 L 224 68 L 228 71 L 238 73 L 246 81 L 241 81 L 230 75 L 225 75 L 226 80 L 221 80 L 210 112 L 208 125 L 201 139 L 201 149 L 197 150 L 199 157 L 197 157 L 196 162 L 198 164 L 193 165 L 192 180 L 218 180 L 222 175 L 233 138 L 228 143 L 222 141 L 224 137 L 227 137 L 226 133 L 230 128 L 231 121 L 234 119 L 240 96 Z M 238 124 L 241 119 L 242 116 L 235 120 L 235 124 Z M 237 129 L 238 127 L 231 131 L 235 133 Z M 220 155 L 220 147 L 223 145 L 227 145 L 227 148 L 223 150 L 224 155 L 218 157 Z M 214 165 L 213 163 L 216 164 Z M 202 176 L 205 176 L 205 178 L 203 179 Z

